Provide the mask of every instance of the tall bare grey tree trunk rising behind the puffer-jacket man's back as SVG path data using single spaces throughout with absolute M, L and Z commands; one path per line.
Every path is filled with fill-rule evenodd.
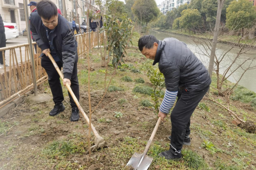
M 215 57 L 217 39 L 218 39 L 219 28 L 220 28 L 220 16 L 221 16 L 221 11 L 222 11 L 224 1 L 225 0 L 218 0 L 218 10 L 217 10 L 217 16 L 216 16 L 216 22 L 215 22 L 215 28 L 214 28 L 214 34 L 213 34 L 213 45 L 212 45 L 211 56 L 210 56 L 209 67 L 208 67 L 208 72 L 211 78 L 213 75 L 214 57 Z M 208 90 L 208 93 L 210 93 L 210 88 Z

